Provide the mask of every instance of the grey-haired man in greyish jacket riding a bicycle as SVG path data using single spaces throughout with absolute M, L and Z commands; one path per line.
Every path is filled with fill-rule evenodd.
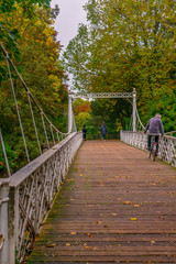
M 156 146 L 156 152 L 158 152 L 158 136 L 160 133 L 164 135 L 164 128 L 163 128 L 163 122 L 162 122 L 162 117 L 161 114 L 156 114 L 154 118 L 150 119 L 148 123 L 146 124 L 146 128 L 144 130 L 144 133 L 148 130 L 148 135 L 147 135 L 147 150 L 151 150 L 151 138 L 152 135 L 155 136 L 155 142 L 157 143 Z

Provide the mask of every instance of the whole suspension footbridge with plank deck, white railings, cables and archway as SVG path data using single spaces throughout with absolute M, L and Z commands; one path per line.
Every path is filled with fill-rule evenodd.
M 0 130 L 8 175 L 0 179 L 0 263 L 22 263 L 41 230 L 41 240 L 29 263 L 174 263 L 176 138 L 172 132 L 161 139 L 158 151 L 158 158 L 170 166 L 161 162 L 151 164 L 145 152 L 146 135 L 138 131 L 143 125 L 136 110 L 135 89 L 124 94 L 81 95 L 127 98 L 132 105 L 132 131 L 121 131 L 121 142 L 82 144 L 72 112 L 72 99 L 80 95 L 69 94 L 68 132 L 63 133 L 46 117 L 2 44 L 1 48 L 26 165 L 11 173 Z M 38 147 L 35 158 L 30 156 L 11 68 L 25 90 Z M 40 140 L 42 133 L 45 152 Z

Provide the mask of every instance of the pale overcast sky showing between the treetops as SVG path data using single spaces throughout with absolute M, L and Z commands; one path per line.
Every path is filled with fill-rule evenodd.
M 59 14 L 55 22 L 58 41 L 66 48 L 69 41 L 77 35 L 78 24 L 86 23 L 86 12 L 82 6 L 88 0 L 52 0 L 51 7 L 59 7 Z

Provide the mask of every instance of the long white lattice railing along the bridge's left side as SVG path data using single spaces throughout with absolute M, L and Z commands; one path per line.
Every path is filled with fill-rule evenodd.
M 4 264 L 14 264 L 15 258 L 21 263 L 31 250 L 81 142 L 81 133 L 73 133 L 11 176 L 9 260 Z

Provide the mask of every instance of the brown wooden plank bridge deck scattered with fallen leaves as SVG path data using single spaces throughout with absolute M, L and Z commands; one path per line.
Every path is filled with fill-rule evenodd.
M 176 169 L 84 142 L 28 261 L 41 263 L 176 263 Z

